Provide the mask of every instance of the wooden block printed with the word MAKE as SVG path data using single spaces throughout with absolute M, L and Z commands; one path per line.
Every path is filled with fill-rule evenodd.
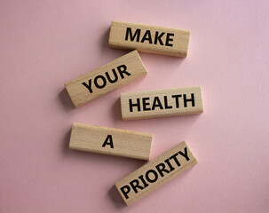
M 186 57 L 190 31 L 113 20 L 108 44 L 112 48 Z

